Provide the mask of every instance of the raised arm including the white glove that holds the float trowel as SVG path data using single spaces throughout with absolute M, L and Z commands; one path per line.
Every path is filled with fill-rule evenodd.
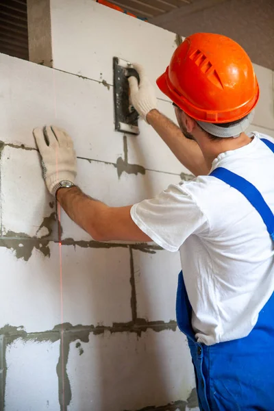
M 169 146 L 177 159 L 194 175 L 208 174 L 208 166 L 197 142 L 188 140 L 177 125 L 158 111 L 155 90 L 147 79 L 144 69 L 134 64 L 138 71 L 140 83 L 136 77 L 129 77 L 129 88 L 132 104 L 142 119 L 152 125 L 153 129 Z

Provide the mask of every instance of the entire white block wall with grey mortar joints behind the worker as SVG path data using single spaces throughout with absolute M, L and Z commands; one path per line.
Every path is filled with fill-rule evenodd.
M 46 124 L 67 129 L 77 183 L 112 206 L 179 182 L 186 169 L 149 125 L 140 121 L 140 136 L 114 131 L 112 95 L 114 55 L 142 63 L 154 82 L 175 34 L 92 0 L 51 0 L 50 18 L 53 69 L 0 55 L 0 411 L 194 410 L 175 324 L 179 255 L 99 244 L 64 212 L 60 243 L 32 136 Z M 274 136 L 273 73 L 255 69 L 261 99 L 251 129 Z M 121 175 L 118 158 L 127 160 Z

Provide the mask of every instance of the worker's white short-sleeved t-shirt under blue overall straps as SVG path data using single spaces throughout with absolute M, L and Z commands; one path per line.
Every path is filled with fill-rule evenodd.
M 260 138 L 274 141 L 249 136 L 245 147 L 218 155 L 211 171 L 221 166 L 244 177 L 274 212 L 274 154 Z M 197 340 L 212 345 L 247 336 L 274 290 L 274 245 L 244 195 L 199 176 L 135 204 L 131 215 L 158 245 L 179 249 Z

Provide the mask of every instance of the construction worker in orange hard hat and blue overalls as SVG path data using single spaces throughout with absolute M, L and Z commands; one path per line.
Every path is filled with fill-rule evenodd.
M 245 134 L 259 98 L 251 61 L 225 36 L 186 38 L 157 80 L 179 128 L 158 111 L 153 86 L 136 69 L 134 107 L 197 177 L 134 206 L 108 207 L 74 185 L 71 138 L 45 127 L 34 136 L 47 188 L 95 240 L 179 250 L 177 323 L 201 410 L 274 410 L 274 144 Z

